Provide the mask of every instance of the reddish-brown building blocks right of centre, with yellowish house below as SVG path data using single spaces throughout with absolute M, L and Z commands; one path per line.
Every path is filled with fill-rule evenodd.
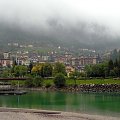
M 71 73 L 75 70 L 83 72 L 86 65 L 98 64 L 101 62 L 99 55 L 97 56 L 78 56 L 75 57 L 72 54 L 65 53 L 63 56 L 58 56 L 55 62 L 64 63 L 67 73 Z

